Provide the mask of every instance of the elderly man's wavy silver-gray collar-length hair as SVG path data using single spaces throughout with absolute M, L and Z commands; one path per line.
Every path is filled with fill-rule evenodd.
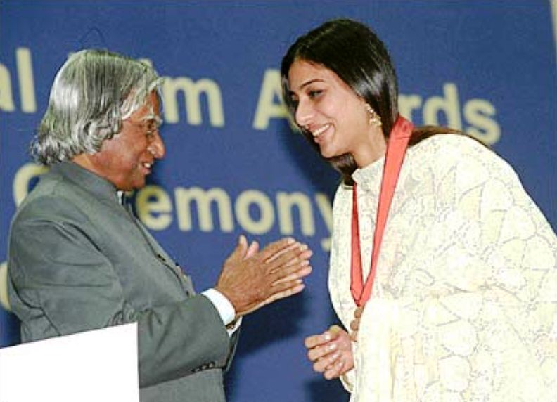
M 54 78 L 32 155 L 49 166 L 98 152 L 151 91 L 160 98 L 160 82 L 151 66 L 127 56 L 94 49 L 72 54 Z

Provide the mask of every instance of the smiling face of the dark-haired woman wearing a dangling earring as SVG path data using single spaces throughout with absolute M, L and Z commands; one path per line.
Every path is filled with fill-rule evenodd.
M 295 120 L 313 134 L 326 158 L 351 153 L 358 166 L 385 152 L 378 127 L 369 123 L 365 102 L 337 74 L 322 65 L 296 60 L 288 72 Z

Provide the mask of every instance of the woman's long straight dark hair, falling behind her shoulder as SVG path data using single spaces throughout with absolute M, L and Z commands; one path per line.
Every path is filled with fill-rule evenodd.
M 292 117 L 296 110 L 290 96 L 288 72 L 296 60 L 322 65 L 337 74 L 377 112 L 388 140 L 398 117 L 397 75 L 387 48 L 369 27 L 353 20 L 331 20 L 299 37 L 290 46 L 281 63 L 281 77 L 284 102 Z M 312 134 L 303 127 L 298 128 L 319 152 L 319 145 L 313 141 Z M 447 132 L 459 131 L 434 126 L 417 127 L 412 133 L 410 145 Z M 340 171 L 346 184 L 353 183 L 352 173 L 358 166 L 350 153 L 326 160 Z

